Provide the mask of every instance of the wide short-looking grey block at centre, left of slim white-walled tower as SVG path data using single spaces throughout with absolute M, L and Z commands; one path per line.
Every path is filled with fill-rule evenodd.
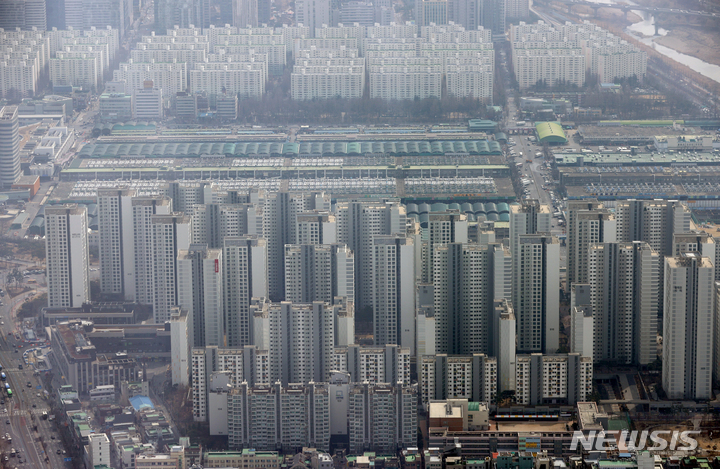
M 344 244 L 286 244 L 285 299 L 294 303 L 355 298 L 355 257 Z

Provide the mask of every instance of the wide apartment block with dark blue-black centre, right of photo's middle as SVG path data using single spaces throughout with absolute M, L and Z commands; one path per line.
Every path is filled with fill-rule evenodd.
M 434 315 L 438 353 L 491 352 L 495 286 L 510 282 L 505 265 L 495 265 L 494 251 L 494 245 L 435 246 Z

